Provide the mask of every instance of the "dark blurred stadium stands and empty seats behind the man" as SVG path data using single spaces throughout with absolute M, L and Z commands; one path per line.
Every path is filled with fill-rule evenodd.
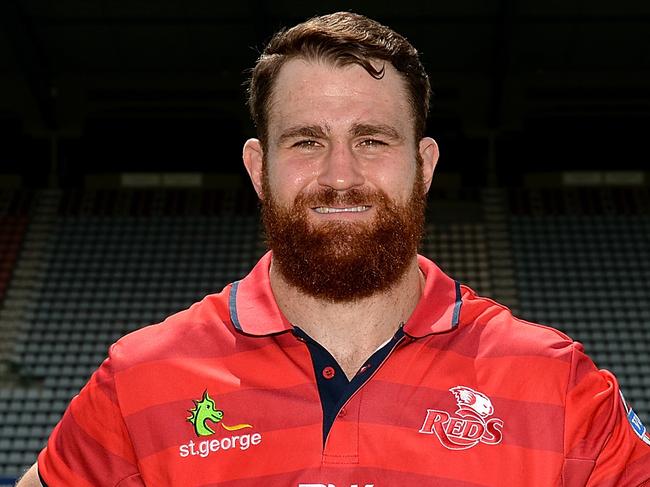
M 650 418 L 649 2 L 2 0 L 0 485 L 110 343 L 262 254 L 245 71 L 341 9 L 430 73 L 423 253 L 583 342 Z

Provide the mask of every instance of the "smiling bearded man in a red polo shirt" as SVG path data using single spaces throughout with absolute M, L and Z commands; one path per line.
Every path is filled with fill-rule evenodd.
M 648 484 L 611 374 L 417 255 L 429 93 L 365 17 L 277 34 L 244 146 L 272 253 L 113 345 L 19 485 Z

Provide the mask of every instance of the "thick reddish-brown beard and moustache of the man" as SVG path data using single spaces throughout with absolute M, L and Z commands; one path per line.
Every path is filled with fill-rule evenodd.
M 384 291 L 406 272 L 424 232 L 426 192 L 418 161 L 409 201 L 397 205 L 383 191 L 324 188 L 300 194 L 291 207 L 278 205 L 264 177 L 262 221 L 273 265 L 300 291 L 329 301 L 354 301 Z M 311 225 L 317 206 L 371 205 L 370 223 L 329 221 Z

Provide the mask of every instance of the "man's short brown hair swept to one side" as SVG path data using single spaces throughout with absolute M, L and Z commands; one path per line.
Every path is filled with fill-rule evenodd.
M 314 17 L 269 41 L 252 69 L 248 107 L 258 137 L 266 146 L 268 114 L 275 80 L 289 59 L 324 59 L 337 66 L 358 64 L 372 77 L 384 76 L 373 60 L 390 62 L 406 83 L 414 119 L 416 142 L 424 136 L 431 87 L 417 50 L 397 32 L 363 15 L 337 12 Z

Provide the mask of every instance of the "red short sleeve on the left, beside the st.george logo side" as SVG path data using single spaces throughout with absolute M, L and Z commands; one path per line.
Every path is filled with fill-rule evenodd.
M 38 457 L 48 487 L 135 487 L 137 460 L 120 412 L 111 358 L 75 396 Z

